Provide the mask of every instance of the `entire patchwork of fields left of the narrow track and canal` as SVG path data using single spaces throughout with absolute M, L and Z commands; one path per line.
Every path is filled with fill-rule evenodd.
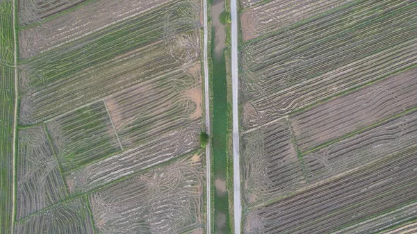
M 203 233 L 202 1 L 0 16 L 0 233 Z

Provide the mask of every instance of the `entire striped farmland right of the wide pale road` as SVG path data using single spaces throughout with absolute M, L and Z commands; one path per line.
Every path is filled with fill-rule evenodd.
M 243 233 L 416 233 L 417 2 L 240 7 Z

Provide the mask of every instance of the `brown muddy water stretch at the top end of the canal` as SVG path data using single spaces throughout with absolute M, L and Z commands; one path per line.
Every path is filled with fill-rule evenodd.
M 220 14 L 224 11 L 224 0 L 215 0 L 211 5 L 211 20 L 214 32 L 214 52 L 216 56 L 221 56 L 226 48 L 226 28 L 220 23 Z

